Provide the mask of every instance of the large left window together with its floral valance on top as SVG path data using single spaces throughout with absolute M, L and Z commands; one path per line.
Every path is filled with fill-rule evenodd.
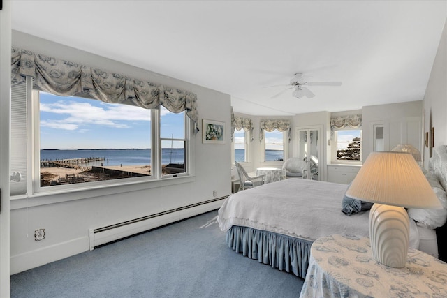
M 40 176 L 11 195 L 190 174 L 196 94 L 28 50 L 11 58 L 11 121 L 24 122 L 13 125 L 11 167 Z M 62 167 L 73 171 L 57 174 Z

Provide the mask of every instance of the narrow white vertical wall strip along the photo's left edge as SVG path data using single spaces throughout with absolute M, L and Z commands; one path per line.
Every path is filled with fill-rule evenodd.
M 0 10 L 0 297 L 10 295 L 9 261 L 9 121 L 10 121 L 10 61 L 11 8 L 3 1 Z

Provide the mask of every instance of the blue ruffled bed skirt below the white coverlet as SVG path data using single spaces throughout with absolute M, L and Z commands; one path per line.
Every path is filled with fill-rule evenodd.
M 226 233 L 226 242 L 248 258 L 306 277 L 313 241 L 233 225 Z

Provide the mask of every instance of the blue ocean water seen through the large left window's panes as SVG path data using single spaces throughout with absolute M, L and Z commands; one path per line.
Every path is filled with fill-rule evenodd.
M 149 165 L 151 149 L 41 150 L 41 161 L 72 158 L 104 158 L 91 165 Z M 161 164 L 184 163 L 184 149 L 162 149 Z

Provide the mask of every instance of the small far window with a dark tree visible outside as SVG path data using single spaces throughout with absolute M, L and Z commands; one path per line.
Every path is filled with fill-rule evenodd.
M 335 131 L 337 144 L 336 161 L 361 161 L 362 160 L 362 131 Z

